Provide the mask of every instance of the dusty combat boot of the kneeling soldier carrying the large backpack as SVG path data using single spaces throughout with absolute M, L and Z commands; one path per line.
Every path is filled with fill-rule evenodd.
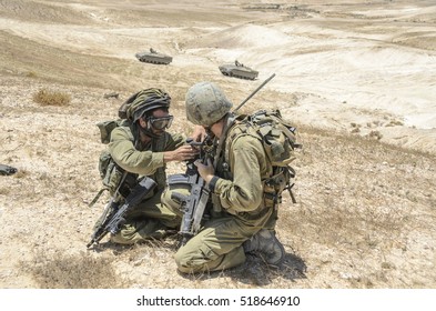
M 262 229 L 242 245 L 246 253 L 260 252 L 268 264 L 278 265 L 285 258 L 285 250 L 272 230 Z

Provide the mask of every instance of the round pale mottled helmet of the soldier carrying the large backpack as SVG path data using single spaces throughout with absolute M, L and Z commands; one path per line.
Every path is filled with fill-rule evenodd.
M 186 117 L 192 123 L 210 127 L 232 108 L 224 92 L 213 82 L 200 82 L 186 93 Z

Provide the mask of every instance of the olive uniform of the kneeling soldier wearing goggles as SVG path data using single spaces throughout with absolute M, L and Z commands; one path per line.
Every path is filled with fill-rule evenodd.
M 162 238 L 169 229 L 176 229 L 181 221 L 180 217 L 161 204 L 161 194 L 166 180 L 163 151 L 175 150 L 182 146 L 184 136 L 164 132 L 148 146 L 135 146 L 135 131 L 136 126 L 115 128 L 111 133 L 109 151 L 122 169 L 139 177 L 148 175 L 158 185 L 141 204 L 128 213 L 126 223 L 121 231 L 111 237 L 113 242 L 123 244 Z

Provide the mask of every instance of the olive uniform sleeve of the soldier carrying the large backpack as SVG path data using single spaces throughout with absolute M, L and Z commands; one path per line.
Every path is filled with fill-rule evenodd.
M 260 161 L 265 158 L 263 147 L 255 138 L 242 137 L 233 142 L 230 153 L 233 181 L 220 178 L 214 192 L 230 212 L 253 211 L 262 203 Z

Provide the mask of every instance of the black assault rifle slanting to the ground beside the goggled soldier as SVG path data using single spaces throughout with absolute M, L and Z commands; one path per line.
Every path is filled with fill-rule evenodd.
M 121 225 L 125 222 L 125 214 L 129 210 L 138 205 L 145 195 L 156 185 L 156 182 L 149 177 L 143 178 L 125 198 L 124 204 L 119 207 L 115 201 L 116 194 L 111 199 L 103 211 L 102 222 L 94 229 L 91 237 L 91 242 L 87 244 L 87 248 L 98 244 L 105 234 L 116 234 Z

